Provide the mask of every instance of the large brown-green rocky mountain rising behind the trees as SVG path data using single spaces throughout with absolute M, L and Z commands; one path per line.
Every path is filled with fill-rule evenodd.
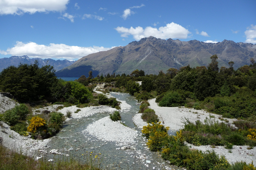
M 235 69 L 250 64 L 250 58 L 256 58 L 256 44 L 224 40 L 218 43 L 205 43 L 197 40 L 162 40 L 155 37 L 143 38 L 126 46 L 108 51 L 89 54 L 74 64 L 56 72 L 59 77 L 88 76 L 90 70 L 97 74 L 130 74 L 142 69 L 145 74 L 166 72 L 169 68 L 179 69 L 190 64 L 191 67 L 207 66 L 214 54 L 218 56 L 219 68 L 229 67 L 233 61 Z M 255 59 L 256 60 L 256 59 Z

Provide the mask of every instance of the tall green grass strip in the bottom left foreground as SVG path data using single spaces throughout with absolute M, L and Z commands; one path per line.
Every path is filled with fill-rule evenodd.
M 0 144 L 0 170 L 100 170 L 100 158 L 84 156 L 82 164 L 73 158 L 48 162 L 46 159 L 34 160 L 26 154 L 17 153 Z

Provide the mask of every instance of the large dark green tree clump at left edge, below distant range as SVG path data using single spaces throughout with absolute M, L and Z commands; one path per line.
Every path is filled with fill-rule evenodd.
M 51 87 L 58 81 L 52 66 L 38 67 L 34 64 L 10 66 L 0 74 L 0 89 L 10 92 L 18 100 L 38 100 L 51 98 Z

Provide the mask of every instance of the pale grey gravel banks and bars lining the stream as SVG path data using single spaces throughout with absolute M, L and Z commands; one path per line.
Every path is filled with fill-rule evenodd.
M 116 93 L 117 95 L 119 93 Z M 109 96 L 111 97 L 111 96 Z M 0 96 L 1 99 L 5 99 L 5 97 Z M 10 100 L 8 99 L 8 102 Z M 120 112 L 129 112 L 131 106 L 127 104 L 125 101 L 121 101 L 121 110 Z M 156 114 L 159 116 L 160 121 L 162 121 L 163 125 L 169 126 L 172 130 L 179 130 L 183 127 L 183 121 L 185 118 L 188 118 L 190 121 L 201 120 L 203 121 L 206 117 L 209 117 L 209 113 L 202 111 L 202 110 L 194 110 L 188 109 L 184 107 L 159 107 L 157 103 L 155 103 L 155 99 L 149 100 L 150 108 L 154 109 Z M 11 107 L 14 107 L 15 104 L 12 104 Z M 10 108 L 11 108 L 10 107 Z M 8 109 L 8 108 L 7 108 Z M 78 113 L 74 113 L 77 109 L 80 109 Z M 4 108 L 6 110 L 6 106 Z M 103 112 L 114 112 L 116 109 L 111 108 L 109 106 L 93 106 L 93 107 L 86 107 L 86 108 L 77 108 L 76 106 L 71 106 L 67 108 L 63 108 L 59 110 L 59 112 L 66 115 L 67 111 L 72 113 L 71 118 L 68 118 L 66 121 L 71 119 L 81 119 L 83 117 L 89 117 L 96 113 L 103 113 Z M 197 112 L 197 114 L 195 114 Z M 216 119 L 218 119 L 219 115 L 211 114 Z M 214 118 L 212 118 L 214 119 Z M 235 119 L 227 119 L 230 123 Z M 143 126 L 147 125 L 141 119 L 141 114 L 136 114 L 133 117 L 133 122 L 137 126 L 137 128 L 142 128 Z M 10 130 L 10 127 L 2 123 L 2 127 L 0 127 L 0 137 L 3 138 L 3 145 L 15 149 L 17 151 L 22 151 L 23 153 L 27 154 L 34 154 L 35 156 L 38 155 L 38 150 L 45 149 L 47 143 L 51 139 L 45 140 L 33 140 L 28 137 L 20 136 L 13 130 Z M 113 122 L 110 120 L 109 116 L 96 120 L 95 122 L 91 123 L 82 131 L 83 133 L 89 133 L 99 140 L 104 141 L 114 141 L 116 144 L 120 146 L 123 145 L 133 145 L 136 144 L 138 136 L 141 134 L 138 133 L 137 130 L 134 128 L 125 127 L 120 122 Z M 137 143 L 138 144 L 138 143 Z M 188 144 L 190 145 L 190 144 Z M 144 147 L 144 146 L 143 146 Z M 215 148 L 211 148 L 209 145 L 207 146 L 194 146 L 191 145 L 192 148 L 200 149 L 203 151 L 206 150 L 214 150 L 219 155 L 224 155 L 227 160 L 232 163 L 236 161 L 245 161 L 246 163 L 251 163 L 252 161 L 256 161 L 256 147 L 253 149 L 247 149 L 248 146 L 233 146 L 231 152 L 228 149 L 225 149 L 223 146 L 216 146 Z M 54 149 L 54 148 L 53 148 Z M 139 152 L 139 151 L 136 151 Z M 146 157 L 146 156 L 145 156 Z M 146 164 L 145 164 L 146 165 Z M 147 164 L 148 165 L 148 164 Z M 153 165 L 152 165 L 153 166 Z M 152 167 L 151 167 L 152 168 Z

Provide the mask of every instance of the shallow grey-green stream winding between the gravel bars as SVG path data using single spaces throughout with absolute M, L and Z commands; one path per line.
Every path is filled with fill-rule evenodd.
M 181 170 L 182 168 L 170 165 L 163 160 L 159 152 L 151 152 L 146 148 L 146 139 L 142 136 L 141 128 L 137 128 L 132 120 L 133 116 L 138 114 L 140 106 L 136 105 L 137 100 L 135 100 L 134 96 L 127 93 L 111 93 L 111 95 L 121 101 L 126 101 L 131 106 L 129 111 L 121 111 L 120 114 L 122 122 L 125 122 L 129 128 L 138 131 L 135 144 L 131 145 L 135 149 L 121 150 L 120 147 L 122 146 L 117 146 L 116 142 L 104 141 L 90 135 L 88 132 L 82 132 L 88 125 L 110 114 L 109 112 L 103 112 L 65 122 L 62 130 L 56 136 L 52 137 L 52 140 L 47 144 L 48 148 L 45 150 L 48 153 L 45 155 L 45 159 L 56 161 L 58 159 L 70 159 L 72 157 L 82 163 L 86 160 L 95 162 L 98 165 L 100 163 L 102 169 Z M 58 149 L 58 152 L 65 155 L 68 154 L 69 157 L 49 153 L 52 149 Z M 99 163 L 97 163 L 98 161 Z

